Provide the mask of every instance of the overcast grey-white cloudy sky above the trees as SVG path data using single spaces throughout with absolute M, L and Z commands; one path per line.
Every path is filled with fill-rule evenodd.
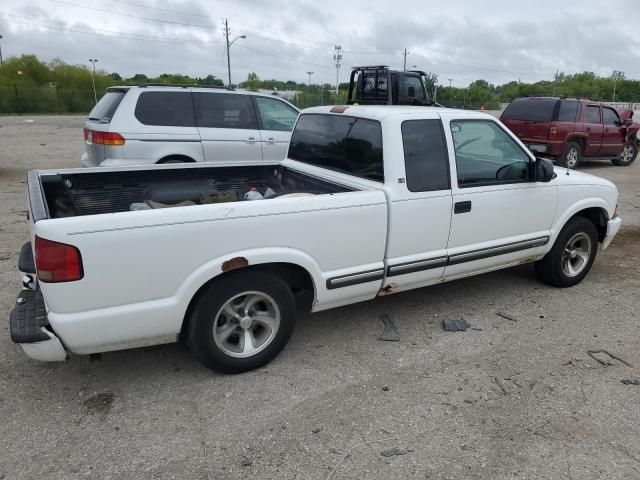
M 640 78 L 637 0 L 0 0 L 3 56 L 34 53 L 123 76 L 227 75 L 222 18 L 231 36 L 233 81 L 335 83 L 353 65 L 407 66 L 466 86 L 613 70 Z

